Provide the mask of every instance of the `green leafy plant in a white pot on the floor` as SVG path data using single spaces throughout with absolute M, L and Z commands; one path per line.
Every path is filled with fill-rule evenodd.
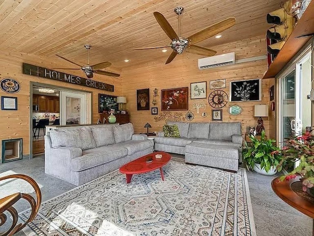
M 244 141 L 242 150 L 243 163 L 248 170 L 254 170 L 262 175 L 274 175 L 281 171 L 283 165 L 276 168 L 282 161 L 279 153 L 280 148 L 273 145 L 276 141 L 265 138 L 265 131 L 262 131 L 261 140 L 250 135 L 251 143 Z M 278 152 L 276 152 L 278 151 Z

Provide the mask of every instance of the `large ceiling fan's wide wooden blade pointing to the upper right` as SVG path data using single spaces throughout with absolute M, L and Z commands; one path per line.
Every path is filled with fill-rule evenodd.
M 195 44 L 198 42 L 201 42 L 207 38 L 210 38 L 214 35 L 216 35 L 217 33 L 220 33 L 226 29 L 229 29 L 230 27 L 235 25 L 235 18 L 234 17 L 230 17 L 227 18 L 223 21 L 217 22 L 205 29 L 202 29 L 194 34 L 192 34 L 191 36 L 187 37 L 187 39 L 189 40 L 190 44 Z

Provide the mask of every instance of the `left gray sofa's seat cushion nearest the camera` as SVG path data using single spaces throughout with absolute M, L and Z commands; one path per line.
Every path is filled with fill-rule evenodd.
M 71 160 L 72 171 L 83 171 L 94 166 L 119 159 L 128 155 L 128 150 L 122 146 L 108 145 L 82 151 L 82 156 Z

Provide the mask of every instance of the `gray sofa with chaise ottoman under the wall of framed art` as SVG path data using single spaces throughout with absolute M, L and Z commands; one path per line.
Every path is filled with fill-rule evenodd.
M 176 122 L 180 138 L 159 132 L 155 150 L 185 155 L 185 162 L 237 171 L 242 162 L 240 122 Z

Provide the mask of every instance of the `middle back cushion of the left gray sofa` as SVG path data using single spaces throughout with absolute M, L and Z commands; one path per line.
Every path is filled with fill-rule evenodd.
M 91 128 L 96 147 L 114 144 L 113 125 L 100 125 Z

